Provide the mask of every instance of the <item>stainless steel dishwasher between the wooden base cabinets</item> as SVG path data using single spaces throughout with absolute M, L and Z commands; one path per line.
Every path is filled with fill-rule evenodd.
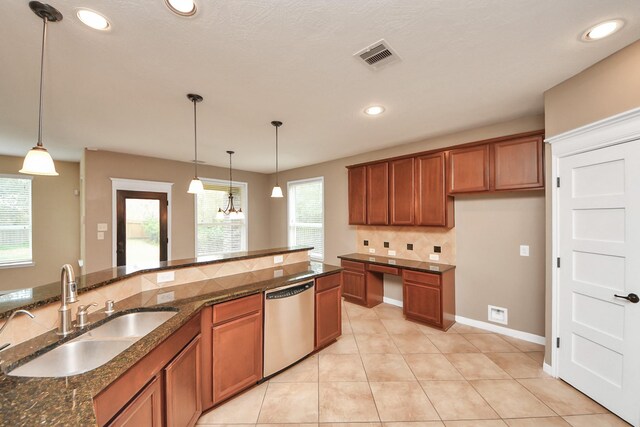
M 264 377 L 302 359 L 314 346 L 314 284 L 264 293 Z

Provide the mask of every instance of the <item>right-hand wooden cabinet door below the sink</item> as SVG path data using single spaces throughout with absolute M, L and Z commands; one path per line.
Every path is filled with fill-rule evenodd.
M 202 414 L 200 367 L 198 335 L 164 369 L 167 427 L 194 426 Z

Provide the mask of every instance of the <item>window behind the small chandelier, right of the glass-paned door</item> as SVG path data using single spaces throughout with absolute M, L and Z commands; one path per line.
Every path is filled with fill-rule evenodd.
M 247 250 L 247 183 L 231 186 L 233 204 L 244 219 L 216 219 L 218 208 L 229 202 L 229 181 L 202 179 L 204 193 L 196 197 L 196 256 Z

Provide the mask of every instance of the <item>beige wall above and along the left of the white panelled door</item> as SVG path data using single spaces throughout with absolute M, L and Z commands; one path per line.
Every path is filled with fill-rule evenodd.
M 544 94 L 547 137 L 640 107 L 640 41 L 594 64 Z M 549 146 L 547 146 L 549 148 Z M 551 150 L 547 150 L 547 179 Z M 551 364 L 551 191 L 546 192 L 546 337 L 545 362 Z

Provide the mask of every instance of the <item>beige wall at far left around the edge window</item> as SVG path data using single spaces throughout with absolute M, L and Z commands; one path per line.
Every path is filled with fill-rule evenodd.
M 22 157 L 0 156 L 0 174 L 19 175 Z M 0 268 L 0 290 L 54 282 L 60 267 L 77 269 L 80 258 L 80 165 L 56 161 L 57 177 L 34 176 L 32 184 L 34 266 Z

